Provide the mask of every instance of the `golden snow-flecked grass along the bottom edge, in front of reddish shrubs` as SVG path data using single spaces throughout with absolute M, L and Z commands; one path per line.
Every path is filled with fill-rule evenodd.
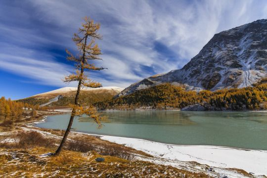
M 79 177 L 79 178 L 207 178 L 207 175 L 179 170 L 170 166 L 143 161 L 102 156 L 94 151 L 80 153 L 62 151 L 60 156 L 42 157 L 52 149 L 0 149 L 0 175 L 2 178 L 18 177 Z M 95 158 L 104 157 L 104 162 Z

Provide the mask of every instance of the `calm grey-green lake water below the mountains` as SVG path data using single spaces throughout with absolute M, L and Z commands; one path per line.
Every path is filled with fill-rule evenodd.
M 72 131 L 142 138 L 162 143 L 219 145 L 267 150 L 267 112 L 107 111 L 97 129 L 91 119 L 74 120 Z M 69 114 L 48 116 L 40 128 L 67 128 Z

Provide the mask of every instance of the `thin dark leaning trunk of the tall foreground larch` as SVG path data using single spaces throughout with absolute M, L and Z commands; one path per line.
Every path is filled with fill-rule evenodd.
M 87 45 L 87 37 L 86 36 L 86 39 L 85 39 L 85 46 Z M 84 47 L 84 51 L 83 51 L 83 63 L 85 63 L 85 47 Z M 82 67 L 81 67 L 81 75 L 83 75 L 84 73 L 84 68 L 83 68 L 83 64 L 82 64 Z M 78 84 L 78 88 L 77 88 L 77 92 L 76 92 L 76 96 L 75 96 L 75 100 L 74 100 L 74 104 L 75 105 L 79 105 L 79 95 L 80 95 L 80 90 L 81 90 L 81 86 L 82 86 L 82 80 L 79 80 L 79 84 Z M 72 113 L 71 113 L 71 117 L 70 117 L 70 121 L 69 121 L 69 125 L 65 131 L 65 134 L 61 140 L 61 143 L 59 145 L 59 147 L 57 148 L 56 152 L 55 152 L 55 155 L 59 155 L 62 148 L 63 148 L 63 145 L 64 143 L 66 142 L 67 140 L 67 137 L 68 137 L 68 134 L 70 133 L 70 130 L 71 130 L 71 126 L 72 126 L 72 123 L 73 123 L 73 120 L 74 120 L 74 117 L 75 117 L 75 113 L 76 113 L 76 110 L 75 109 L 72 109 Z

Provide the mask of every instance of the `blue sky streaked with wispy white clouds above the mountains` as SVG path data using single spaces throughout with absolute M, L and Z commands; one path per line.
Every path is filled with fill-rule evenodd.
M 266 0 L 1 0 L 0 96 L 19 99 L 74 87 L 65 49 L 89 16 L 101 24 L 103 86 L 128 87 L 179 69 L 214 36 L 267 18 Z

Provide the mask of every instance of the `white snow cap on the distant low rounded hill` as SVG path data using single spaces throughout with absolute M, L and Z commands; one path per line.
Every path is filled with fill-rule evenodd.
M 39 95 L 45 95 L 45 94 L 55 94 L 55 93 L 63 94 L 63 93 L 76 91 L 76 90 L 77 90 L 76 87 L 64 87 L 64 88 L 55 89 L 55 90 L 52 90 L 52 91 L 36 94 L 36 95 L 33 95 L 33 96 L 39 96 Z M 93 88 L 83 88 L 82 90 L 83 91 L 114 90 L 114 91 L 119 93 L 119 92 L 121 92 L 123 90 L 123 88 L 120 88 L 120 87 L 101 87 L 101 88 L 95 88 L 95 89 L 93 89 Z

